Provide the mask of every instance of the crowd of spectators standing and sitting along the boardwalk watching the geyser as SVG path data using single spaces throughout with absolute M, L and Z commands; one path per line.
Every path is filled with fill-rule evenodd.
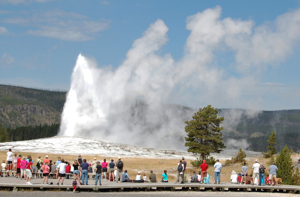
M 93 159 L 91 163 L 87 163 L 86 159 L 82 159 L 81 155 L 78 154 L 78 157 L 74 159 L 72 164 L 70 162 L 65 161 L 63 158 L 58 156 L 56 161 L 52 161 L 48 159 L 48 155 L 45 155 L 44 159 L 41 159 L 40 156 L 35 160 L 35 164 L 33 164 L 33 159 L 30 155 L 22 156 L 16 153 L 12 153 L 11 148 L 6 153 L 7 155 L 7 163 L 3 160 L 1 163 L 1 171 L 0 175 L 3 176 L 13 176 L 13 172 L 15 173 L 16 178 L 24 178 L 26 179 L 26 184 L 31 184 L 30 180 L 32 174 L 35 177 L 42 176 L 42 184 L 48 184 L 48 177 L 56 178 L 57 185 L 63 185 L 64 178 L 73 177 L 73 186 L 82 184 L 88 185 L 88 177 L 89 175 L 95 179 L 94 184 L 101 185 L 102 178 L 104 180 L 110 180 L 115 182 L 156 182 L 156 175 L 150 170 L 149 180 L 147 180 L 146 174 L 141 175 L 141 172 L 138 171 L 135 179 L 130 179 L 127 170 L 123 171 L 124 163 L 121 158 L 118 157 L 118 160 L 114 162 L 113 159 L 110 162 L 106 162 L 106 159 L 103 159 L 103 162 L 100 162 L 96 159 Z M 208 165 L 205 160 L 202 160 L 200 164 L 199 171 L 197 174 L 194 171 L 191 175 L 190 182 L 199 182 L 199 183 L 209 183 L 209 175 L 207 174 Z M 220 183 L 220 172 L 222 168 L 222 164 L 216 159 L 216 162 L 213 165 L 214 168 L 214 184 Z M 184 183 L 186 181 L 186 161 L 184 157 L 177 162 L 177 172 L 174 183 Z M 241 171 L 236 174 L 234 170 L 231 171 L 230 182 L 231 183 L 239 183 L 239 184 L 272 184 L 272 177 L 276 177 L 276 172 L 278 170 L 277 166 L 272 165 L 269 166 L 269 174 L 266 174 L 265 177 L 265 167 L 262 163 L 258 163 L 258 160 L 255 160 L 255 163 L 252 165 L 253 173 L 248 176 L 248 167 L 246 163 L 243 163 L 241 167 Z M 167 171 L 164 170 L 161 174 L 161 182 L 168 182 L 167 179 Z M 60 183 L 61 181 L 61 183 Z

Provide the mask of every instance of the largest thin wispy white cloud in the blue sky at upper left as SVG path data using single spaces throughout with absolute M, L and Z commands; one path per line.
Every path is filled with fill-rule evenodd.
M 51 11 L 24 12 L 23 16 L 3 18 L 3 22 L 31 27 L 28 34 L 52 37 L 61 40 L 85 41 L 109 28 L 109 20 L 91 20 L 90 18 L 59 9 Z

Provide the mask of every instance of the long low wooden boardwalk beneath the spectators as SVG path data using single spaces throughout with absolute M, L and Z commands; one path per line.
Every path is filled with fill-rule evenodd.
M 65 179 L 63 185 L 56 185 L 57 179 L 49 178 L 48 182 L 53 184 L 42 184 L 42 178 L 32 178 L 31 185 L 25 184 L 24 179 L 10 177 L 0 177 L 1 190 L 55 190 L 55 191 L 71 191 L 72 179 Z M 61 181 L 60 181 L 61 183 Z M 283 192 L 283 193 L 300 193 L 300 186 L 282 185 L 282 186 L 258 186 L 258 185 L 243 185 L 232 183 L 221 184 L 199 184 L 199 183 L 184 183 L 174 184 L 168 183 L 133 183 L 133 182 L 112 182 L 102 181 L 102 185 L 94 185 L 93 179 L 88 179 L 89 185 L 79 185 L 78 191 L 94 191 L 94 192 L 111 192 L 111 191 L 256 191 L 256 192 Z

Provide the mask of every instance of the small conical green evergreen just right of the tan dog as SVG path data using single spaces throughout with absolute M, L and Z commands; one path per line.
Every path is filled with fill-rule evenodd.
M 292 183 L 293 167 L 290 153 L 287 145 L 285 145 L 275 160 L 275 165 L 278 167 L 277 177 L 282 178 L 282 184 Z

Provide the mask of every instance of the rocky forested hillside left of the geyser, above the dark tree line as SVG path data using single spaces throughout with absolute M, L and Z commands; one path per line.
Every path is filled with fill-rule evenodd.
M 0 123 L 3 127 L 60 122 L 66 92 L 0 85 Z

